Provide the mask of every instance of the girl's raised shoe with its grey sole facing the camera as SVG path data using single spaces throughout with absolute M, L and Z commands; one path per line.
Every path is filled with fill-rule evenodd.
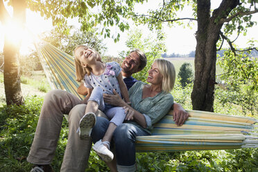
M 96 115 L 93 112 L 88 112 L 80 119 L 78 128 L 80 139 L 89 139 L 92 133 L 92 127 L 96 124 Z

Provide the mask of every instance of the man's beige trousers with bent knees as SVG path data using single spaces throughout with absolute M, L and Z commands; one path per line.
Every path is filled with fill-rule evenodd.
M 51 164 L 60 137 L 63 114 L 69 114 L 69 134 L 61 171 L 85 171 L 92 140 L 81 140 L 76 132 L 85 114 L 85 104 L 77 96 L 54 89 L 44 98 L 33 144 L 27 161 L 32 164 Z M 98 113 L 98 116 L 105 116 Z

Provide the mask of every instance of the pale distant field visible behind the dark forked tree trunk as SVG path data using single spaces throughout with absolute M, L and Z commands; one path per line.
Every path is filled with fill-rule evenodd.
M 193 71 L 194 71 L 194 58 L 164 58 L 164 59 L 169 60 L 170 62 L 173 63 L 173 65 L 175 66 L 175 72 L 177 76 L 178 76 L 178 71 L 184 62 L 191 63 L 191 66 L 193 67 Z M 222 74 L 222 73 L 223 73 L 223 69 L 221 69 L 221 67 L 217 65 L 216 75 Z

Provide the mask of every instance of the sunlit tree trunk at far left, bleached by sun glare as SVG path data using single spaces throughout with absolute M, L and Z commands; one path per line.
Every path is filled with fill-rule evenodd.
M 18 25 L 22 26 L 26 18 L 26 1 L 25 0 L 13 0 L 13 20 L 12 22 L 18 22 Z M 19 29 L 19 28 L 17 28 Z M 6 104 L 10 105 L 15 103 L 22 105 L 24 98 L 22 96 L 20 69 L 19 69 L 19 48 L 21 40 L 19 35 L 14 39 L 11 39 L 15 33 L 6 33 L 5 42 L 3 47 L 4 55 L 4 69 L 3 80 L 6 92 Z

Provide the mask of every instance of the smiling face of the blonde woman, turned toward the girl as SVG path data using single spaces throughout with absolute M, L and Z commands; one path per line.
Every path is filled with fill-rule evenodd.
M 160 74 L 160 70 L 157 68 L 157 62 L 153 62 L 148 70 L 147 82 L 155 85 L 162 85 L 163 76 Z

